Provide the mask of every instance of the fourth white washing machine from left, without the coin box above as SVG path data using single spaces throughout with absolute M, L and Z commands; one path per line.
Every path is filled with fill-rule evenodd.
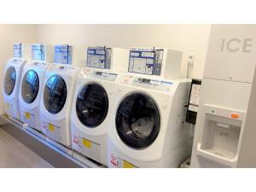
M 118 73 L 84 68 L 79 74 L 71 113 L 73 149 L 107 166 L 107 134 Z

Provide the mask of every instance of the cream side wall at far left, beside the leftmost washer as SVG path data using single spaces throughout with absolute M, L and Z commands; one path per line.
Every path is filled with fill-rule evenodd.
M 35 25 L 0 25 L 0 74 L 6 62 L 14 55 L 15 42 L 32 43 L 37 40 L 37 27 Z M 3 79 L 3 78 L 1 78 Z M 0 113 L 3 113 L 2 81 L 0 84 Z

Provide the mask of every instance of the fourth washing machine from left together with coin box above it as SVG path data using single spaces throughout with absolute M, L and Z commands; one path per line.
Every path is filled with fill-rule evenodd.
M 113 113 L 114 85 L 127 70 L 128 50 L 87 49 L 87 67 L 79 73 L 71 113 L 73 149 L 107 166 L 107 137 Z

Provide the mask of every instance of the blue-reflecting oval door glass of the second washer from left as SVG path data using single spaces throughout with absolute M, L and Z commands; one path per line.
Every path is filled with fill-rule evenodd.
M 26 103 L 32 103 L 38 96 L 39 78 L 34 70 L 28 70 L 21 83 L 21 96 Z

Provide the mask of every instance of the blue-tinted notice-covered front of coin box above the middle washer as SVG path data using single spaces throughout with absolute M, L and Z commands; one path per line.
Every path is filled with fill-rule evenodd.
M 68 44 L 55 45 L 55 63 L 72 63 L 72 46 Z

